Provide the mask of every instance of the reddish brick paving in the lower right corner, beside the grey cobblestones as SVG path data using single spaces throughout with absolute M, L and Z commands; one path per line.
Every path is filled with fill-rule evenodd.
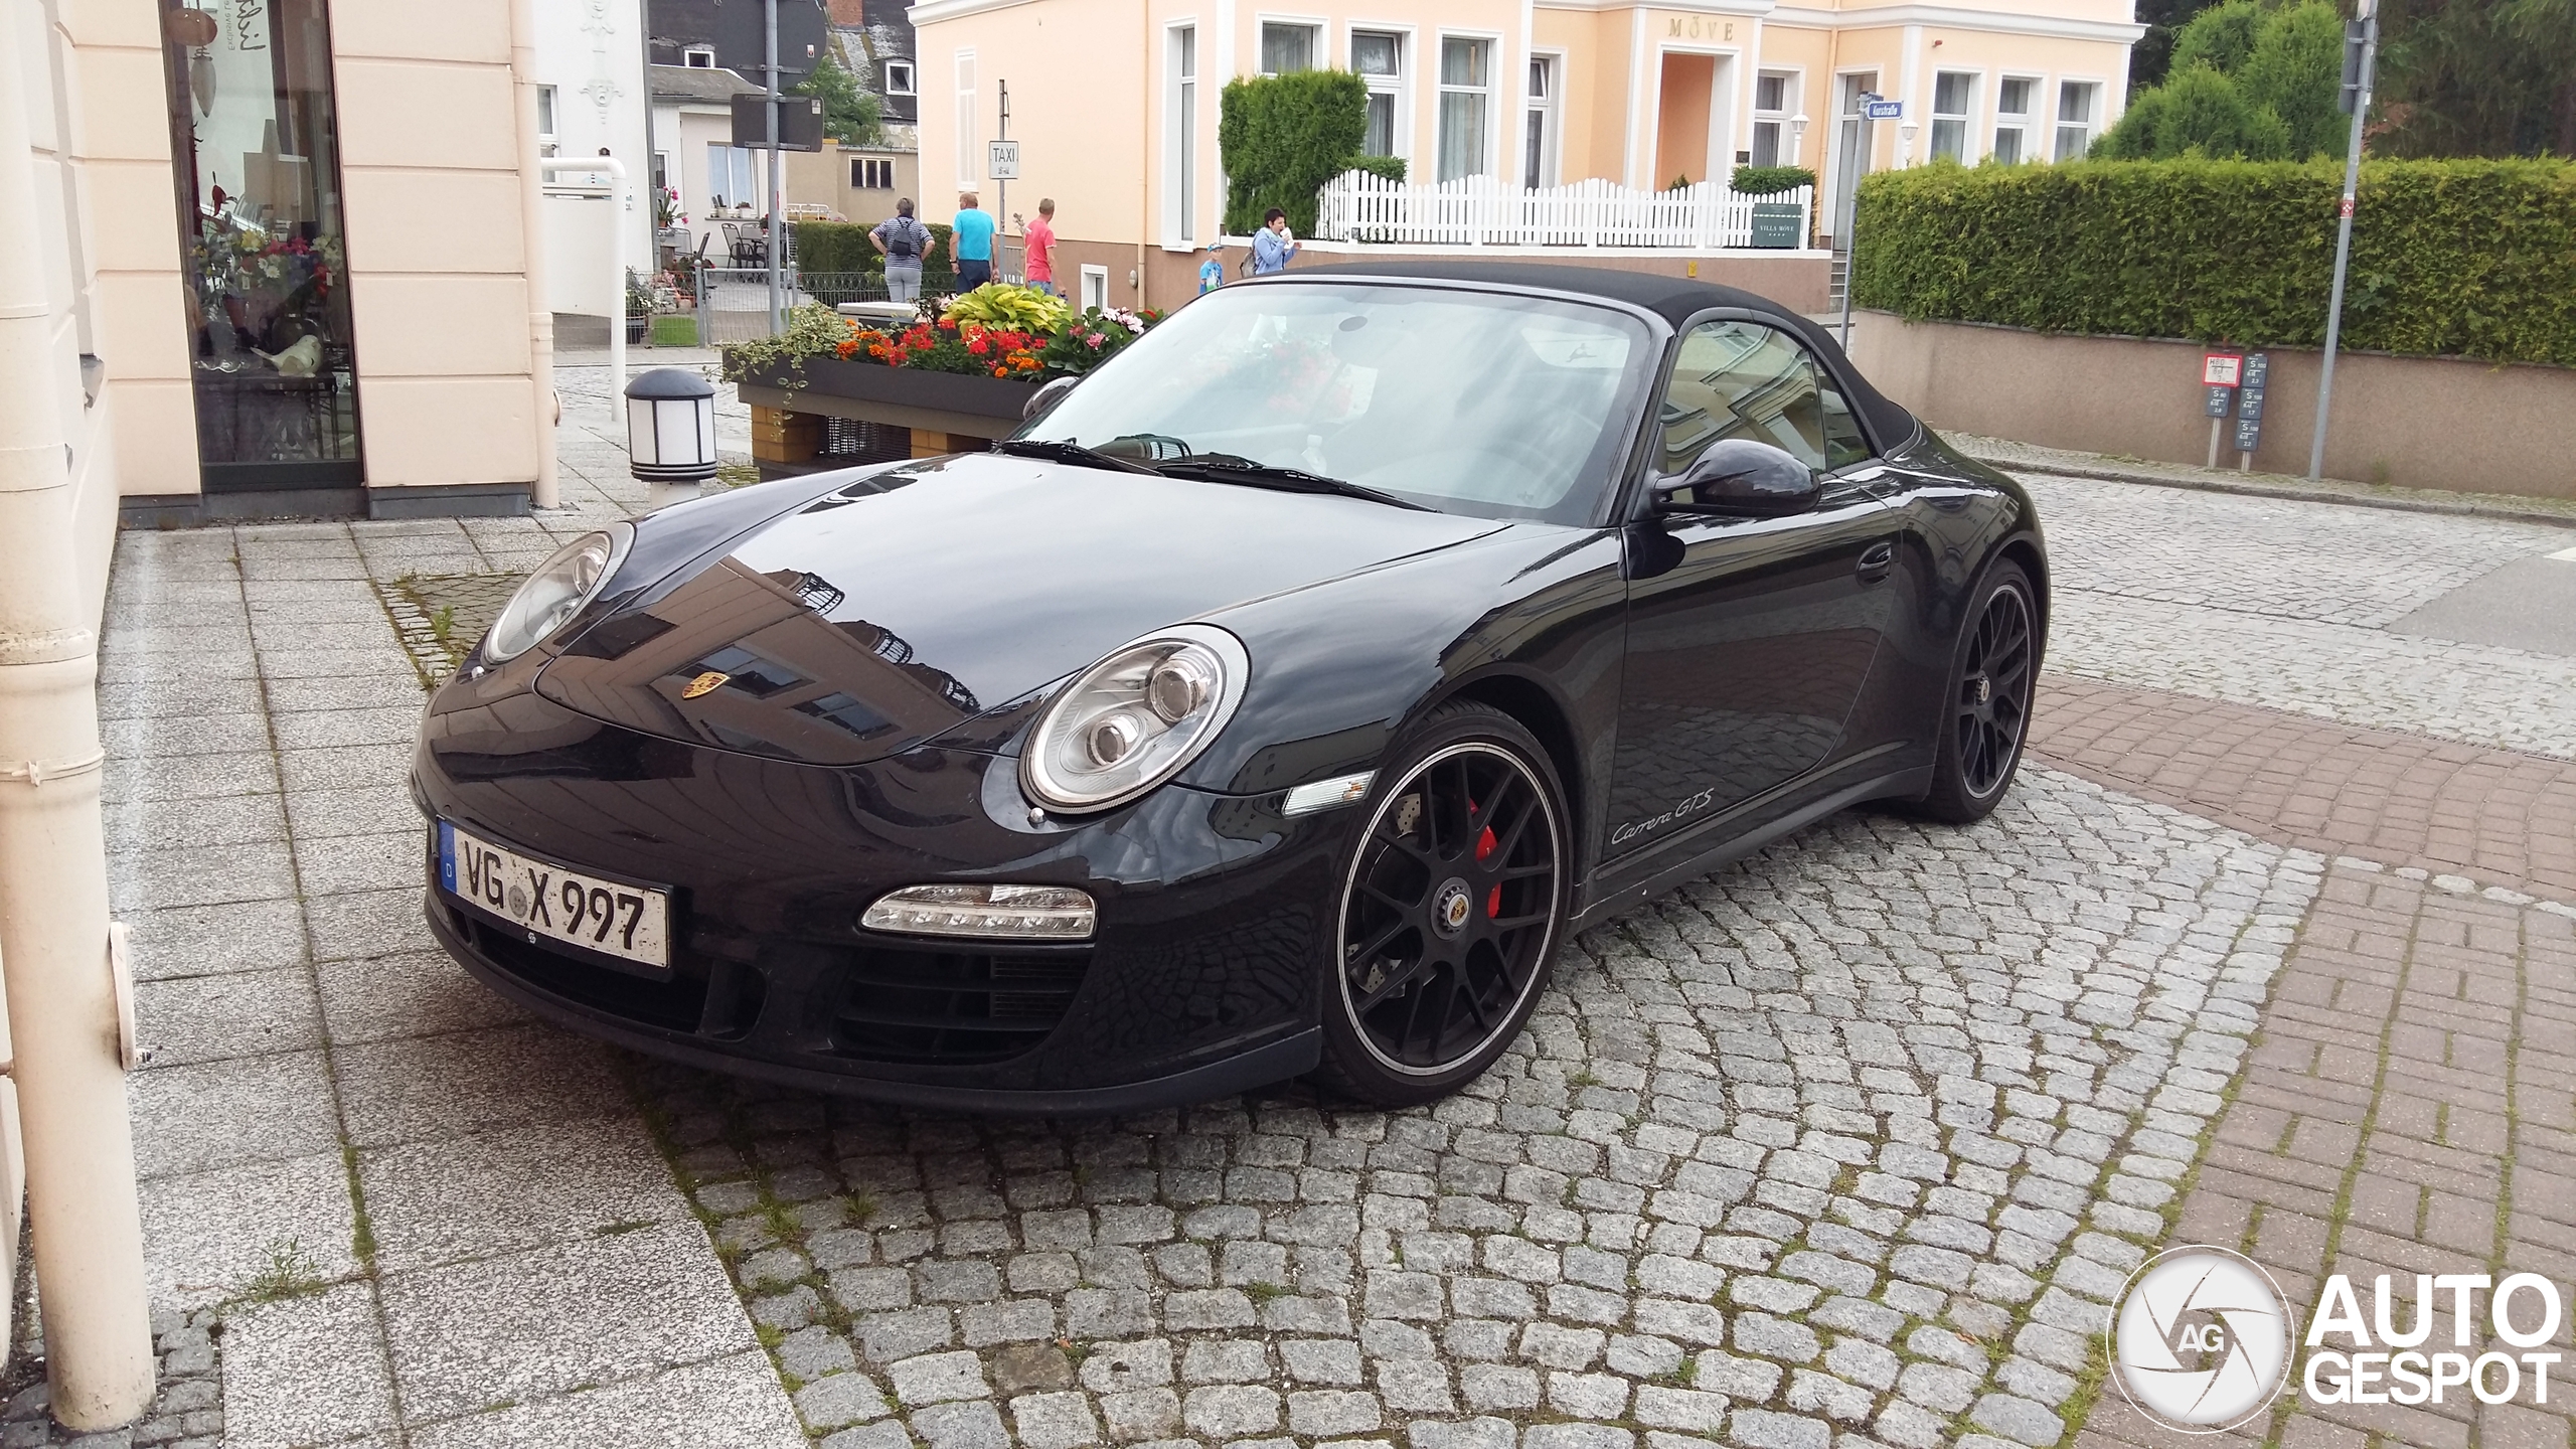
M 2378 1274 L 2576 1276 L 2576 910 L 2416 877 L 2352 859 L 2326 871 L 2166 1243 L 2249 1253 L 2303 1315 L 2326 1274 L 2365 1299 Z M 2468 1351 L 2504 1348 L 2476 1312 Z M 2545 1410 L 2458 1392 L 2306 1405 L 2293 1387 L 2275 1410 L 2215 1444 L 2566 1449 L 2576 1403 L 2555 1382 Z M 2076 1436 L 2177 1444 L 2112 1387 Z

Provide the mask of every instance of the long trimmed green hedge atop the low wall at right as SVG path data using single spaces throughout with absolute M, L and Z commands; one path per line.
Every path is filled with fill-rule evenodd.
M 2321 345 L 2331 162 L 1922 165 L 1860 183 L 1852 299 L 1909 320 Z M 2576 162 L 2362 168 L 2342 345 L 2576 366 Z

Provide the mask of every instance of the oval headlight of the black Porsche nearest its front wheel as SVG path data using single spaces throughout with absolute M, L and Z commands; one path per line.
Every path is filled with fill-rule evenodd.
M 1211 624 L 1136 639 L 1046 706 L 1020 753 L 1020 789 L 1054 810 L 1126 804 L 1216 740 L 1249 676 L 1242 639 Z

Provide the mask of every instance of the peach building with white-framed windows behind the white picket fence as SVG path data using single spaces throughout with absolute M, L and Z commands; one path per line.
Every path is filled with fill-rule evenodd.
M 1010 206 L 1056 199 L 1066 273 L 1090 268 L 1097 297 L 1172 304 L 1195 286 L 1190 253 L 1218 240 L 1218 90 L 1337 67 L 1368 80 L 1368 150 L 1404 157 L 1409 180 L 1659 191 L 1798 162 L 1819 170 L 1814 235 L 1832 245 L 1865 170 L 2079 155 L 2120 113 L 2130 15 L 2133 0 L 920 0 L 925 209 L 940 217 L 956 186 L 992 206 L 1007 85 Z M 1862 119 L 1865 93 L 1904 116 Z M 1772 258 L 1705 260 L 1747 278 Z

